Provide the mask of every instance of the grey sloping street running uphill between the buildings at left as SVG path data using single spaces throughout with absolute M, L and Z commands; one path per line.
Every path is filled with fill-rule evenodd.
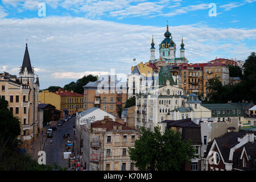
M 63 152 L 65 151 L 65 144 L 67 144 L 67 138 L 63 138 L 63 136 L 64 133 L 69 133 L 71 141 L 75 143 L 73 125 L 75 125 L 75 117 L 64 122 L 62 126 L 56 126 L 57 130 L 53 131 L 53 137 L 46 139 L 43 148 L 46 152 L 46 164 L 52 165 L 56 162 L 58 166 L 68 168 L 68 159 L 63 160 Z M 52 143 L 49 143 L 50 140 Z M 57 144 L 59 148 L 57 148 Z

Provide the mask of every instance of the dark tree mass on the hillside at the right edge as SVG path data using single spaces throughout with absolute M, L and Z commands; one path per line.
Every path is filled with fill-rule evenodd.
M 222 85 L 216 78 L 209 80 L 206 103 L 226 103 L 228 101 L 256 102 L 256 56 L 252 52 L 243 65 L 244 74 L 242 80 L 236 85 Z

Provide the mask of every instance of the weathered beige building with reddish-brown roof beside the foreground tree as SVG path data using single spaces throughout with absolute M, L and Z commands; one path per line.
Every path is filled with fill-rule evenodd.
M 134 147 L 139 131 L 105 116 L 81 126 L 82 156 L 89 171 L 136 171 L 128 147 Z

